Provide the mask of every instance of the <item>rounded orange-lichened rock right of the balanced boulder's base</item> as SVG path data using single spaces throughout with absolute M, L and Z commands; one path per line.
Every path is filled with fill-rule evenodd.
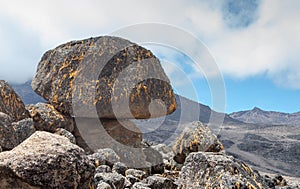
M 222 143 L 218 140 L 208 126 L 201 122 L 193 122 L 194 127 L 186 128 L 177 138 L 173 150 L 174 160 L 183 164 L 185 158 L 191 152 L 220 152 L 223 150 Z

